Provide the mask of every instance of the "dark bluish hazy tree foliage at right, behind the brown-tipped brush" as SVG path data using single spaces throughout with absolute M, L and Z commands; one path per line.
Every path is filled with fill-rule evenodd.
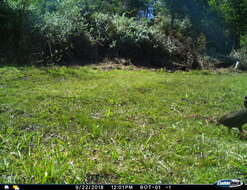
M 203 33 L 206 36 L 208 51 L 220 53 L 231 51 L 232 40 L 225 20 L 212 8 L 208 0 L 162 0 L 162 2 L 169 10 L 170 25 L 173 29 L 178 30 L 175 26 L 176 20 L 182 21 L 187 18 L 192 24 L 187 34 L 197 39 Z

